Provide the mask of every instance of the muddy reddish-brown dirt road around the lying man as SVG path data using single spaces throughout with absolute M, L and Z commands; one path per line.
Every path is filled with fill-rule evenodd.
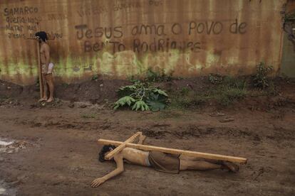
M 0 82 L 0 95 L 6 97 L 0 104 L 0 140 L 15 141 L 0 148 L 0 195 L 295 195 L 294 83 L 280 85 L 276 97 L 247 99 L 223 109 L 152 113 L 108 107 L 115 94 L 112 98 L 107 92 L 122 82 L 104 85 L 110 100 L 106 95 L 95 98 L 94 92 L 87 95 L 94 89 L 99 94 L 101 82 L 85 93 L 79 88 L 86 85 L 58 86 L 59 100 L 44 106 L 36 104 L 34 87 Z M 216 111 L 224 116 L 210 115 Z M 222 123 L 226 117 L 234 121 Z M 115 168 L 115 163 L 98 162 L 98 138 L 124 141 L 136 131 L 148 136 L 146 144 L 249 160 L 239 173 L 178 175 L 125 164 L 123 174 L 91 188 L 93 179 Z

